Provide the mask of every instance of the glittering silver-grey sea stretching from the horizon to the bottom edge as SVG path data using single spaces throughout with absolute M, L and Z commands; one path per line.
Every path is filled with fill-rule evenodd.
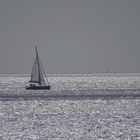
M 0 74 L 0 140 L 140 140 L 140 74 Z

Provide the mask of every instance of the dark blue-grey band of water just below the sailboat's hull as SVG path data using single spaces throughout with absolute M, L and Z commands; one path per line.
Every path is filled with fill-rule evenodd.
M 51 91 L 51 92 L 25 92 L 0 93 L 0 101 L 17 100 L 114 100 L 114 99 L 140 99 L 140 89 L 120 90 L 81 90 L 81 91 Z

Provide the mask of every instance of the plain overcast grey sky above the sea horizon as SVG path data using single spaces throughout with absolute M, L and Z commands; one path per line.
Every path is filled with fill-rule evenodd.
M 140 0 L 0 0 L 0 73 L 140 72 Z

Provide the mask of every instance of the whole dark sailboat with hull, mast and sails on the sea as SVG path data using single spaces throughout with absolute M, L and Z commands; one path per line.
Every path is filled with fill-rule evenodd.
M 29 81 L 30 86 L 27 86 L 27 90 L 50 90 L 48 79 L 45 75 L 41 60 L 38 55 L 37 47 L 35 46 L 36 58 L 32 67 L 31 79 Z

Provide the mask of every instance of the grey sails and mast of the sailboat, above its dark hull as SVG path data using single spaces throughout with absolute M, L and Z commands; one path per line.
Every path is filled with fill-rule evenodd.
M 36 46 L 35 46 L 35 50 L 36 50 L 36 58 L 35 58 L 35 61 L 34 61 L 33 67 L 32 67 L 32 74 L 31 74 L 30 82 L 38 83 L 40 86 L 46 86 L 47 79 L 46 79 L 40 58 L 38 56 Z

